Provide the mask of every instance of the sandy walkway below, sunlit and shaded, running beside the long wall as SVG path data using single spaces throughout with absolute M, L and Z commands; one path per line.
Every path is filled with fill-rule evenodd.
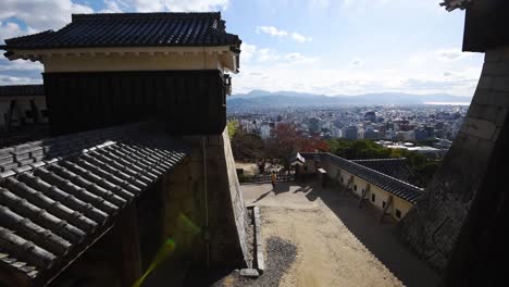
M 262 236 L 297 246 L 280 286 L 437 286 L 438 276 L 378 224 L 380 211 L 337 189 L 243 185 L 246 204 L 261 207 Z

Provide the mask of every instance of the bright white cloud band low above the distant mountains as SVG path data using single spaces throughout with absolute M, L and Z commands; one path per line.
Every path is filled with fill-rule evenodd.
M 398 67 L 393 70 L 323 68 L 321 61 L 306 62 L 299 53 L 283 54 L 274 63 L 250 63 L 235 75 L 234 92 L 248 92 L 251 89 L 298 90 L 302 92 L 335 95 L 360 95 L 368 92 L 397 91 L 409 93 L 451 93 L 472 96 L 479 80 L 481 67 L 458 70 L 414 70 Z M 300 66 L 284 63 L 305 61 Z M 361 61 L 361 60 L 355 60 Z M 444 72 L 446 71 L 446 72 Z M 269 73 L 269 76 L 268 76 Z M 446 74 L 445 74 L 446 73 Z M 447 75 L 447 76 L 444 76 Z

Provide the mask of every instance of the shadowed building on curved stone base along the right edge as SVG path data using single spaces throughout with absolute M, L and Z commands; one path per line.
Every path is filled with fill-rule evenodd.
M 446 0 L 465 10 L 463 50 L 484 52 L 472 103 L 400 235 L 444 274 L 443 286 L 507 286 L 509 1 Z

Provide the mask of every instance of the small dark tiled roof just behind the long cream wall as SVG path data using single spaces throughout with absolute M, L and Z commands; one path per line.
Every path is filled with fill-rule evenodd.
M 412 171 L 410 171 L 405 158 L 352 160 L 352 162 L 401 180 L 408 180 L 412 175 Z

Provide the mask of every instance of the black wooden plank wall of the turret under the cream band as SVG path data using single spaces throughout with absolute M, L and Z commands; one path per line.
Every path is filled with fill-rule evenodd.
M 170 133 L 221 134 L 222 73 L 207 71 L 44 73 L 53 135 L 157 118 Z

